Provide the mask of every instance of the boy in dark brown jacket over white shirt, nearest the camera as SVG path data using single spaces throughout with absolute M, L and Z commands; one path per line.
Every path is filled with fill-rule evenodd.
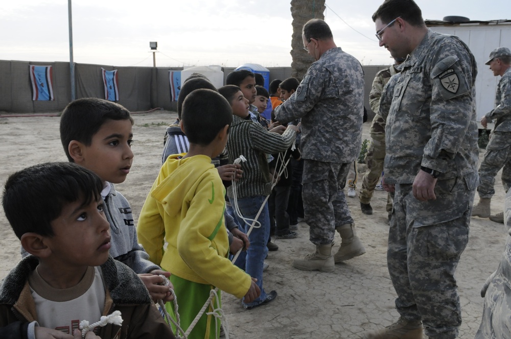
M 5 214 L 32 255 L 2 282 L 0 334 L 77 339 L 80 321 L 94 323 L 118 310 L 122 326 L 99 328 L 102 339 L 174 337 L 142 281 L 108 255 L 102 190 L 96 174 L 74 163 L 39 164 L 9 177 Z

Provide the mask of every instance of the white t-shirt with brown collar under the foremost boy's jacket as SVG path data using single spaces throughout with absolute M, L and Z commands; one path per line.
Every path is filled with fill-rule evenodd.
M 100 320 L 105 306 L 105 286 L 100 267 L 89 267 L 82 280 L 71 288 L 53 288 L 37 272 L 29 277 L 30 290 L 41 327 L 73 334 L 80 322 Z

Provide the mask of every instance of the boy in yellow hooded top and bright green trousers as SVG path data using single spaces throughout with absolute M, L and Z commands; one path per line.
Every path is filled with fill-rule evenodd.
M 227 233 L 221 231 L 224 186 L 211 159 L 225 148 L 232 116 L 226 100 L 213 90 L 197 89 L 184 99 L 181 128 L 190 150 L 170 156 L 161 166 L 138 221 L 138 236 L 150 259 L 172 272 L 184 330 L 215 287 L 247 302 L 261 293 L 250 276 L 227 259 Z M 211 305 L 208 312 L 213 312 Z M 188 337 L 217 337 L 213 318 L 203 314 Z

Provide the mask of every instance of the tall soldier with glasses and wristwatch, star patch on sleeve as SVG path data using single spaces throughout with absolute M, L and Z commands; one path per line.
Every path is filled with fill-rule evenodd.
M 407 59 L 385 129 L 384 187 L 395 189 L 387 265 L 400 319 L 366 338 L 452 339 L 461 324 L 454 272 L 469 238 L 477 177 L 476 62 L 432 32 L 412 0 L 373 14 L 380 46 Z

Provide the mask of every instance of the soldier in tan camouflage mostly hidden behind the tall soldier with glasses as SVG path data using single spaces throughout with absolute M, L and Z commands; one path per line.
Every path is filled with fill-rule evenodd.
M 404 58 L 395 58 L 396 65 L 400 65 Z M 383 171 L 383 159 L 385 158 L 385 120 L 378 113 L 380 110 L 380 98 L 383 91 L 383 87 L 387 84 L 391 76 L 399 72 L 396 66 L 390 66 L 389 68 L 380 70 L 373 80 L 373 87 L 369 93 L 369 105 L 371 110 L 375 112 L 373 123 L 369 133 L 371 134 L 371 141 L 367 154 L 365 155 L 365 163 L 367 164 L 367 170 L 362 177 L 362 187 L 360 188 L 359 200 L 360 208 L 364 214 L 373 214 L 373 207 L 371 207 L 371 198 L 375 191 L 376 184 L 380 180 L 380 176 Z M 392 213 L 392 198 L 390 193 L 387 197 L 387 212 L 390 215 Z

